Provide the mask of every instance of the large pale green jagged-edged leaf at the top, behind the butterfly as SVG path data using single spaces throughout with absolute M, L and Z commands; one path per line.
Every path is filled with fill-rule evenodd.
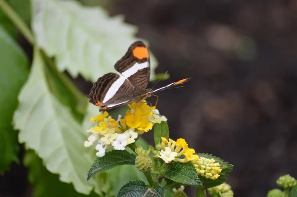
M 81 74 L 92 82 L 107 72 L 137 39 L 137 28 L 123 16 L 109 17 L 100 7 L 83 6 L 74 0 L 32 0 L 32 27 L 38 45 L 56 58 L 60 71 Z M 151 59 L 151 79 L 156 61 Z

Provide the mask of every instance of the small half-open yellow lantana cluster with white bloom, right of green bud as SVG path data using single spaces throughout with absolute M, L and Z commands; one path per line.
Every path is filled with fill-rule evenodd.
M 161 139 L 162 149 L 157 156 L 165 163 L 169 163 L 171 161 L 186 163 L 199 158 L 199 156 L 195 154 L 195 149 L 188 147 L 185 139 L 180 138 L 177 139 L 177 141 L 170 138 L 167 140 L 163 137 Z

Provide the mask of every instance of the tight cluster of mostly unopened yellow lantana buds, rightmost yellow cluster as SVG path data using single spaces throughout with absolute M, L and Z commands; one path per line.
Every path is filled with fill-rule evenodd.
M 201 175 L 206 179 L 215 180 L 219 178 L 219 173 L 222 171 L 220 164 L 215 162 L 213 158 L 208 159 L 205 157 L 200 157 L 193 160 L 193 165 L 196 168 L 198 175 Z

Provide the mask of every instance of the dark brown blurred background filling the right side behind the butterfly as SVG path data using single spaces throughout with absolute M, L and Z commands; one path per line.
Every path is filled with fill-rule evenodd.
M 234 165 L 235 197 L 265 197 L 280 175 L 297 178 L 296 0 L 81 1 L 139 27 L 158 59 L 156 73 L 171 75 L 157 87 L 192 77 L 183 89 L 160 92 L 158 109 L 170 138 Z M 76 82 L 89 93 L 91 84 Z M 9 196 L 28 193 L 25 168 L 12 169 L 2 187 L 18 187 Z M 20 178 L 5 181 L 10 176 Z

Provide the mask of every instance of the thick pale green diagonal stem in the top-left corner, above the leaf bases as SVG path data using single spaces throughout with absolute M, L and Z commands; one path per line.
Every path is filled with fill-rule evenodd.
M 12 7 L 4 0 L 0 0 L 0 8 L 2 8 L 3 12 L 10 18 L 10 20 L 14 23 L 16 28 L 23 34 L 27 41 L 31 45 L 34 45 L 35 40 L 32 32 L 30 31 L 30 28 L 26 25 L 22 18 L 12 9 Z

